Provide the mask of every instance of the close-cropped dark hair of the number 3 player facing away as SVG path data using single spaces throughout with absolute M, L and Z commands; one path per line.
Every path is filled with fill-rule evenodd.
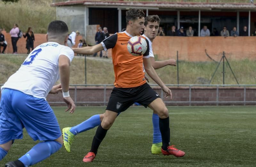
M 65 34 L 68 33 L 68 26 L 64 21 L 55 20 L 49 24 L 47 33 L 48 35 Z

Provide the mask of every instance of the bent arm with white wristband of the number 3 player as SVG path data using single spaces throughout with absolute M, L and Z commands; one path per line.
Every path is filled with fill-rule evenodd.
M 60 72 L 60 83 L 63 91 L 63 100 L 67 104 L 68 108 L 66 111 L 70 110 L 69 113 L 73 113 L 76 109 L 76 105 L 69 96 L 69 75 L 70 75 L 70 60 L 65 55 L 60 55 L 59 57 L 59 72 Z

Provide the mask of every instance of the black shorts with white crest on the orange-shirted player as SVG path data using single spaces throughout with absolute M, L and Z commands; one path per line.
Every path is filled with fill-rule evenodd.
M 123 112 L 135 102 L 148 107 L 157 98 L 160 98 L 158 93 L 148 83 L 134 88 L 114 88 L 109 97 L 106 110 L 116 113 Z

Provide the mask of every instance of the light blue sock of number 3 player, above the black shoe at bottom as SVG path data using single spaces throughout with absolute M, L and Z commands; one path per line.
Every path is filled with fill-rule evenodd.
M 31 148 L 31 150 L 20 157 L 19 160 L 24 164 L 25 167 L 34 165 L 48 158 L 61 147 L 62 145 L 57 141 L 44 141 Z

